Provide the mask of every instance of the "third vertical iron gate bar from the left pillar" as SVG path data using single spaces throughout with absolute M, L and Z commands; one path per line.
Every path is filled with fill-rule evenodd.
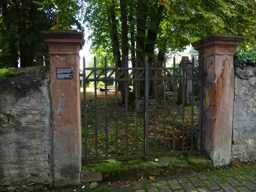
M 104 65 L 105 65 L 105 79 L 107 79 L 107 57 L 104 58 Z M 109 153 L 108 153 L 108 82 L 105 82 L 105 145 L 106 145 L 106 157 L 108 158 Z

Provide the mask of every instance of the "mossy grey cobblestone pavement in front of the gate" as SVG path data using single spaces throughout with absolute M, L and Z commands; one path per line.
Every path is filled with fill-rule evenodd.
M 146 179 L 146 178 L 145 178 Z M 256 192 L 256 165 L 155 177 L 155 181 L 102 182 L 92 192 Z

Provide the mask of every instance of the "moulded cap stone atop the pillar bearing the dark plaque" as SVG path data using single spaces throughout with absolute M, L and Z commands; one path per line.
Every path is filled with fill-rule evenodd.
M 82 32 L 76 30 L 48 30 L 40 31 L 44 41 L 48 43 L 79 43 L 80 49 L 84 45 Z

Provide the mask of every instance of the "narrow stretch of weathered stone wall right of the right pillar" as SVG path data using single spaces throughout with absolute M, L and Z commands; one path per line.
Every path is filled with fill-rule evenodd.
M 256 67 L 238 69 L 235 79 L 232 159 L 256 160 Z

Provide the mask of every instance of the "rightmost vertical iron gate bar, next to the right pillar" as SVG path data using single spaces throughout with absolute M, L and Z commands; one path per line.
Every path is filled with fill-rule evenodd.
M 200 90 L 200 153 L 203 147 L 203 99 L 204 99 L 204 57 L 201 58 L 201 90 Z

